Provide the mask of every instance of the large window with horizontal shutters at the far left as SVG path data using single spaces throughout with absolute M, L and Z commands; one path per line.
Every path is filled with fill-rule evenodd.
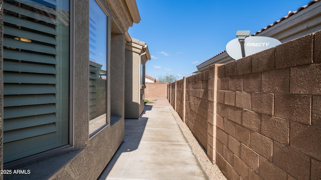
M 4 0 L 4 162 L 69 143 L 69 0 Z

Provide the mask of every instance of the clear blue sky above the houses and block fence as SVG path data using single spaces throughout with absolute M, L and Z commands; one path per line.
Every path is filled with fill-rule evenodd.
M 136 0 L 141 20 L 128 32 L 148 45 L 146 74 L 182 79 L 225 50 L 237 30 L 255 33 L 309 1 Z

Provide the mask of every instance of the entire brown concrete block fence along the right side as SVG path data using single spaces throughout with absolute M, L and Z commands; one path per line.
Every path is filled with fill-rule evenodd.
M 321 179 L 321 31 L 168 89 L 228 179 Z

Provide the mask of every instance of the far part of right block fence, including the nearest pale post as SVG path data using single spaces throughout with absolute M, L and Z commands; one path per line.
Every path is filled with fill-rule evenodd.
M 169 101 L 215 161 L 217 65 L 168 85 Z

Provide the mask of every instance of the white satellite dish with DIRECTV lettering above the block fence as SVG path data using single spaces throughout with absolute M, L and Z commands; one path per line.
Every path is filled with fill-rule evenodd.
M 281 42 L 272 37 L 265 37 L 265 36 L 246 37 L 244 42 L 245 56 L 252 55 L 257 52 L 275 47 L 276 45 L 279 45 L 279 44 L 281 44 Z M 243 57 L 239 38 L 235 38 L 226 44 L 226 52 L 231 58 L 235 60 Z

